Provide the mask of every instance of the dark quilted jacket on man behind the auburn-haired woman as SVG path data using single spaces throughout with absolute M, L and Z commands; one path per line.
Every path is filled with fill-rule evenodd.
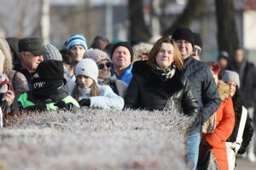
M 190 133 L 201 133 L 201 125 L 218 110 L 221 99 L 209 66 L 191 56 L 184 59 L 184 74 L 188 77 L 195 99 L 200 106 L 199 119 L 195 121 Z

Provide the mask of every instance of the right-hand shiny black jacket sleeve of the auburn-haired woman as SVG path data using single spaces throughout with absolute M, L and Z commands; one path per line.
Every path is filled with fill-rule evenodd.
M 184 77 L 183 82 L 183 112 L 187 116 L 192 116 L 195 121 L 199 116 L 199 104 L 191 91 L 189 80 Z

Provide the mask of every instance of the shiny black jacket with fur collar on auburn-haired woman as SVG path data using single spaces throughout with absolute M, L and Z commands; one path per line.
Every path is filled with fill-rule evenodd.
M 198 102 L 193 96 L 183 71 L 164 81 L 157 76 L 147 61 L 133 65 L 133 77 L 125 95 L 125 106 L 148 111 L 171 109 L 187 116 L 198 116 Z M 167 102 L 167 99 L 169 103 Z

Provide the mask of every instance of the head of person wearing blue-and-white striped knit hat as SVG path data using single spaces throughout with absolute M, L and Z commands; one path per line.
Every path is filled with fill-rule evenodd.
M 67 39 L 67 48 L 75 55 L 75 61 L 79 62 L 83 59 L 85 50 L 88 49 L 85 37 L 82 34 L 73 34 Z

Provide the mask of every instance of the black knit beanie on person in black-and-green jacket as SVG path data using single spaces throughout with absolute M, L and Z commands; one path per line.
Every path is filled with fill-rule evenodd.
M 62 79 L 64 76 L 64 68 L 60 60 L 42 61 L 37 68 L 39 77 L 45 80 Z

